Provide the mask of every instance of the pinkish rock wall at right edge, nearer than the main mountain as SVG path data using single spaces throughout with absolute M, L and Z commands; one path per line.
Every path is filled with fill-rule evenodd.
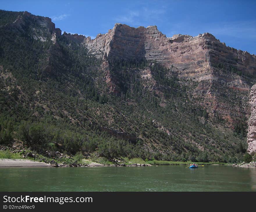
M 247 134 L 247 143 L 248 148 L 247 152 L 249 154 L 256 153 L 256 84 L 253 85 L 250 92 L 250 106 L 251 106 L 251 116 L 248 120 L 248 134 Z

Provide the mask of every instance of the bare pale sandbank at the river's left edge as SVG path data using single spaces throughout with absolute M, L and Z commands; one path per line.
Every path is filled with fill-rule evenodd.
M 25 159 L 0 159 L 0 167 L 37 167 L 51 166 L 50 164 Z

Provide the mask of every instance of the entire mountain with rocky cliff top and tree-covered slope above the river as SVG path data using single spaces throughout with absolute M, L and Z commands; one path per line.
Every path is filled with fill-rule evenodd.
M 170 39 L 156 26 L 115 24 L 92 40 L 28 12 L 17 19 L 0 28 L 2 118 L 13 138 L 105 157 L 241 159 L 253 55 L 209 33 Z

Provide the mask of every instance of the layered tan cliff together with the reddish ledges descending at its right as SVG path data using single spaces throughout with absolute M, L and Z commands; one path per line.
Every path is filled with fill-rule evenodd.
M 175 67 L 179 78 L 198 83 L 188 91 L 191 96 L 198 98 L 198 103 L 209 112 L 218 112 L 230 123 L 234 117 L 241 118 L 249 112 L 246 104 L 255 82 L 243 76 L 256 73 L 256 56 L 227 47 L 209 33 L 166 37 L 156 26 L 132 28 L 115 24 L 108 33 L 99 34 L 93 40 L 84 38 L 82 45 L 110 63 L 145 58 L 157 60 L 168 68 Z M 106 78 L 111 88 L 116 87 L 111 75 Z

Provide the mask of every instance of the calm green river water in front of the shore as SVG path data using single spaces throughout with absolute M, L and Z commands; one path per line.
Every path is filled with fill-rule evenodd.
M 0 168 L 0 191 L 256 191 L 256 168 Z

